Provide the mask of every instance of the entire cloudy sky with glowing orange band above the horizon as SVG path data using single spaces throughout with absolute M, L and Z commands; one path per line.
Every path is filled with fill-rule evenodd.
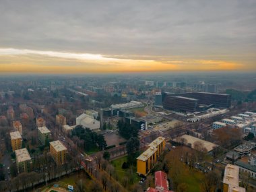
M 256 1 L 0 0 L 1 73 L 256 71 Z

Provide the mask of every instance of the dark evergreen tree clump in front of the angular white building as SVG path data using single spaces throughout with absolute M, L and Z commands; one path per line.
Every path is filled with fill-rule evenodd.
M 104 150 L 106 148 L 106 141 L 104 136 L 98 134 L 90 129 L 84 129 L 81 125 L 77 125 L 75 129 L 71 132 L 71 137 L 78 137 L 81 139 L 84 150 L 89 152 L 98 148 L 99 150 Z

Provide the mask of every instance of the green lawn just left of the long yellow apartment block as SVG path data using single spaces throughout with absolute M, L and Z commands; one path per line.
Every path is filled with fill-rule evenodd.
M 130 177 L 129 176 L 129 168 L 123 169 L 122 168 L 123 162 L 127 162 L 127 156 L 118 158 L 117 160 L 113 160 L 111 162 L 111 164 L 115 167 L 115 171 L 117 172 L 117 175 L 119 178 L 123 178 L 125 176 L 127 176 L 129 178 Z M 140 178 L 136 172 L 137 172 L 137 167 L 133 166 L 134 183 L 138 183 L 140 180 Z

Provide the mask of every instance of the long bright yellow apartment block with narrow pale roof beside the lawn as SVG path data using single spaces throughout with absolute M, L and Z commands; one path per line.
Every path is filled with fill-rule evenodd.
M 158 137 L 150 143 L 148 150 L 137 158 L 137 173 L 146 175 L 155 166 L 160 154 L 164 151 L 166 140 Z

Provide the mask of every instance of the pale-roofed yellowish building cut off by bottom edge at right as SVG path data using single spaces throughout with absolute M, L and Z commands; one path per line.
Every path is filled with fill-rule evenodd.
M 245 188 L 239 187 L 239 167 L 227 164 L 223 177 L 223 192 L 245 192 Z

